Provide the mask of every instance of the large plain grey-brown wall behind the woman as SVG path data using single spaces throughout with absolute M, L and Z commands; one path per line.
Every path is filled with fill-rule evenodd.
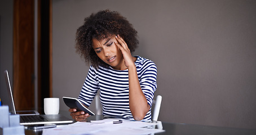
M 159 120 L 256 128 L 256 1 L 53 0 L 55 97 L 79 95 L 88 66 L 74 50 L 76 29 L 107 8 L 138 30 L 134 55 L 157 65 Z

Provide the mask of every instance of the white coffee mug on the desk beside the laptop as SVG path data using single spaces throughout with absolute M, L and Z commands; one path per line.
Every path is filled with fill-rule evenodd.
M 45 98 L 43 101 L 45 114 L 59 114 L 59 98 Z

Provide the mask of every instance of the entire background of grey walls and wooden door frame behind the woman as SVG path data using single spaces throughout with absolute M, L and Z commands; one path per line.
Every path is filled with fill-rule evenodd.
M 78 97 L 89 66 L 76 30 L 99 10 L 118 11 L 138 31 L 139 55 L 157 65 L 158 120 L 256 129 L 256 1 L 0 1 L 1 100 L 10 73 L 18 110 L 44 97 Z M 94 103 L 90 106 L 95 110 Z

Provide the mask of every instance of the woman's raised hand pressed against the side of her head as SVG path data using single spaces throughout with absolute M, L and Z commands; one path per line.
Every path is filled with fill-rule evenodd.
M 116 46 L 121 50 L 123 54 L 123 59 L 125 60 L 125 66 L 129 68 L 129 66 L 135 66 L 133 56 L 131 56 L 131 51 L 127 46 L 125 40 L 120 37 L 120 35 L 116 36 L 117 42 L 114 42 Z

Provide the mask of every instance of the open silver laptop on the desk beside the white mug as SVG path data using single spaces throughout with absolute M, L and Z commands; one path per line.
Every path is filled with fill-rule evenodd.
M 12 97 L 12 90 L 8 71 L 5 70 L 5 80 L 7 86 L 7 93 L 11 102 L 11 113 L 20 115 L 20 125 L 39 125 L 39 124 L 60 124 L 60 123 L 73 123 L 72 119 L 69 119 L 61 114 L 56 115 L 42 115 L 35 110 L 29 111 L 16 111 L 14 105 L 14 98 Z

